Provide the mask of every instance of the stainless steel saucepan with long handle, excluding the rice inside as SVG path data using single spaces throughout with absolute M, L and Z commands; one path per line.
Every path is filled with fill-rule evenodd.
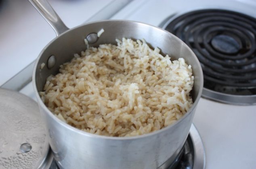
M 55 30 L 53 39 L 39 54 L 33 72 L 33 85 L 45 120 L 50 147 L 60 168 L 65 169 L 164 169 L 183 147 L 189 134 L 195 109 L 203 89 L 203 74 L 199 61 L 189 47 L 171 33 L 134 21 L 109 20 L 86 23 L 68 29 L 46 0 L 29 0 Z M 97 38 L 101 29 L 105 32 Z M 183 57 L 193 68 L 195 82 L 193 107 L 173 125 L 142 136 L 109 137 L 90 134 L 65 124 L 44 105 L 38 92 L 43 91 L 46 78 L 57 74 L 59 66 L 91 46 L 116 44 L 122 37 L 145 39 L 151 47 L 159 47 L 172 59 Z M 41 69 L 41 64 L 46 66 Z M 163 165 L 164 164 L 164 165 Z

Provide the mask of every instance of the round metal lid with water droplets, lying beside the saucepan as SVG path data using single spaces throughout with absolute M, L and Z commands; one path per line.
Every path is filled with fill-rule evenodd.
M 0 89 L 0 107 L 0 168 L 49 168 L 53 156 L 38 104 Z

